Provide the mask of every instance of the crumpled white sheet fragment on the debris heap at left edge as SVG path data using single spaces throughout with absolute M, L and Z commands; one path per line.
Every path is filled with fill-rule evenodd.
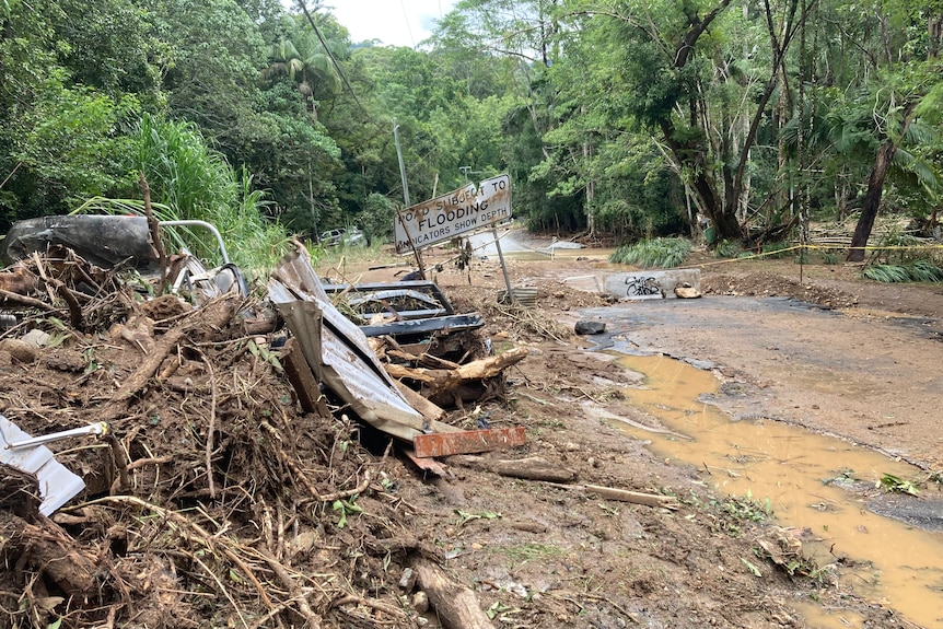
M 32 436 L 0 415 L 0 433 L 5 444 L 25 442 Z M 0 463 L 15 467 L 20 471 L 36 476 L 39 482 L 39 513 L 51 515 L 57 509 L 85 489 L 85 482 L 53 457 L 53 451 L 45 445 L 9 449 L 0 447 Z

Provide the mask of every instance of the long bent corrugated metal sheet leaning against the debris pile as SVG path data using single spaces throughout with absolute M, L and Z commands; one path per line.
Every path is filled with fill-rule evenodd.
M 422 432 L 422 416 L 396 388 L 366 337 L 327 301 L 306 252 L 283 260 L 268 289 L 321 382 L 379 430 L 407 441 Z

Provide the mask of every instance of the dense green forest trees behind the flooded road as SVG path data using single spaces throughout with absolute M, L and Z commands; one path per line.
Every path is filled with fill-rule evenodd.
M 231 234 L 383 236 L 395 120 L 414 202 L 508 172 L 536 229 L 863 244 L 935 221 L 941 44 L 939 0 L 462 0 L 417 49 L 314 0 L 0 0 L 0 231 L 143 173 Z

